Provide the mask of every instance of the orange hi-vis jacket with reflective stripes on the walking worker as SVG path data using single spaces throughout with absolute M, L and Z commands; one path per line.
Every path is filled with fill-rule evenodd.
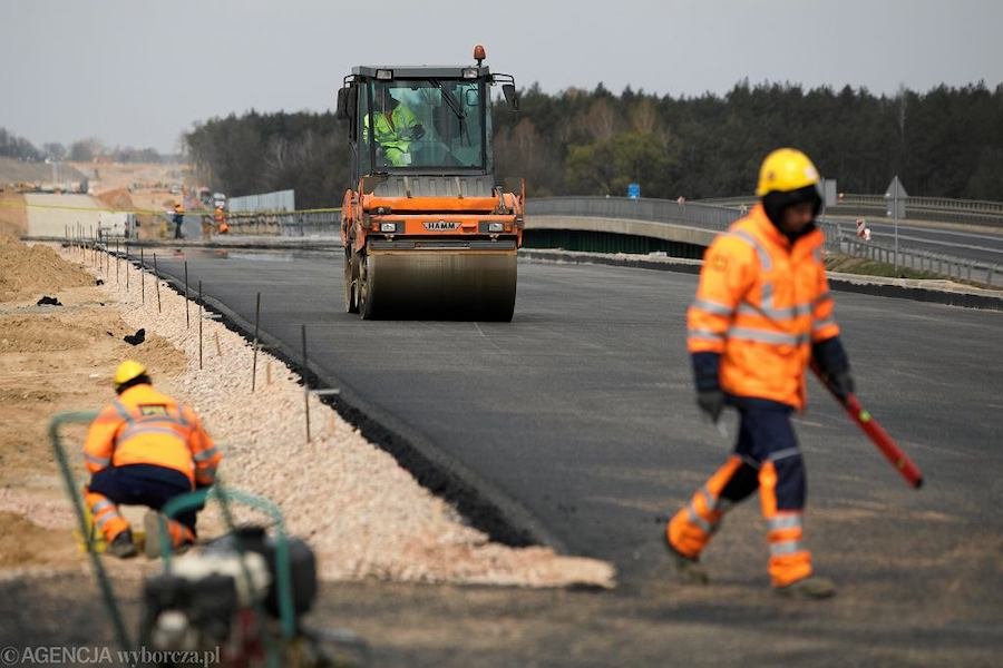
M 721 354 L 721 389 L 805 407 L 811 344 L 839 335 L 821 230 L 790 240 L 762 205 L 708 248 L 686 313 L 690 353 Z

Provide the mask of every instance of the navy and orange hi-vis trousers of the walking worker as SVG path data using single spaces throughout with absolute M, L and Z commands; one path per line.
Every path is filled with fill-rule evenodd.
M 739 409 L 742 423 L 734 454 L 669 521 L 665 538 L 681 554 L 699 557 L 728 509 L 759 489 L 770 580 L 785 587 L 811 574 L 811 554 L 801 542 L 805 469 L 790 411 L 769 403 L 772 406 L 766 410 Z

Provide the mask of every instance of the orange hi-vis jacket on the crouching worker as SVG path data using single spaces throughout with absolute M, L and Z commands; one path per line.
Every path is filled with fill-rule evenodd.
M 213 484 L 222 459 L 192 409 L 145 384 L 105 406 L 84 444 L 84 463 L 91 473 L 152 464 L 181 471 L 202 487 Z

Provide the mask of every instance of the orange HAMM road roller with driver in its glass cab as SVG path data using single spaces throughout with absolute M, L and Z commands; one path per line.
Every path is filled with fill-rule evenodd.
M 358 66 L 338 91 L 352 184 L 341 208 L 344 307 L 362 318 L 510 321 L 526 186 L 498 185 L 491 90 L 475 65 Z

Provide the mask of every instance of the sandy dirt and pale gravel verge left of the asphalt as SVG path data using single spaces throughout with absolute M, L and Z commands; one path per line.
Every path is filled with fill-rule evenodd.
M 22 301 L 0 303 L 0 533 L 23 540 L 0 541 L 0 577 L 12 566 L 79 568 L 82 557 L 74 547 L 74 518 L 47 423 L 58 411 L 96 410 L 110 401 L 116 364 L 134 357 L 147 364 L 158 387 L 202 415 L 224 452 L 221 479 L 274 501 L 291 532 L 317 551 L 325 579 L 613 584 L 607 563 L 489 542 L 315 397 L 313 438 L 304 442 L 303 390 L 295 375 L 260 352 L 251 393 L 253 351 L 246 341 L 206 318 L 199 355 L 197 307 L 186 321 L 184 297 L 163 285 L 156 298 L 152 277 L 127 263 L 117 271 L 114 262 L 108 265 L 107 275 L 100 274 L 105 285 L 96 287 L 69 262 L 57 258 L 57 267 L 46 268 L 25 259 L 55 255 L 50 249 L 9 243 L 7 253 L 20 256 L 10 266 L 21 286 L 13 294 Z M 62 254 L 87 257 L 79 250 Z M 41 286 L 64 306 L 36 306 Z M 139 327 L 146 340 L 126 344 L 123 336 Z M 86 481 L 79 455 L 84 434 L 82 425 L 66 431 L 77 488 Z M 222 528 L 212 511 L 199 515 L 199 527 L 205 537 Z M 142 571 L 137 564 L 116 572 L 137 568 Z

